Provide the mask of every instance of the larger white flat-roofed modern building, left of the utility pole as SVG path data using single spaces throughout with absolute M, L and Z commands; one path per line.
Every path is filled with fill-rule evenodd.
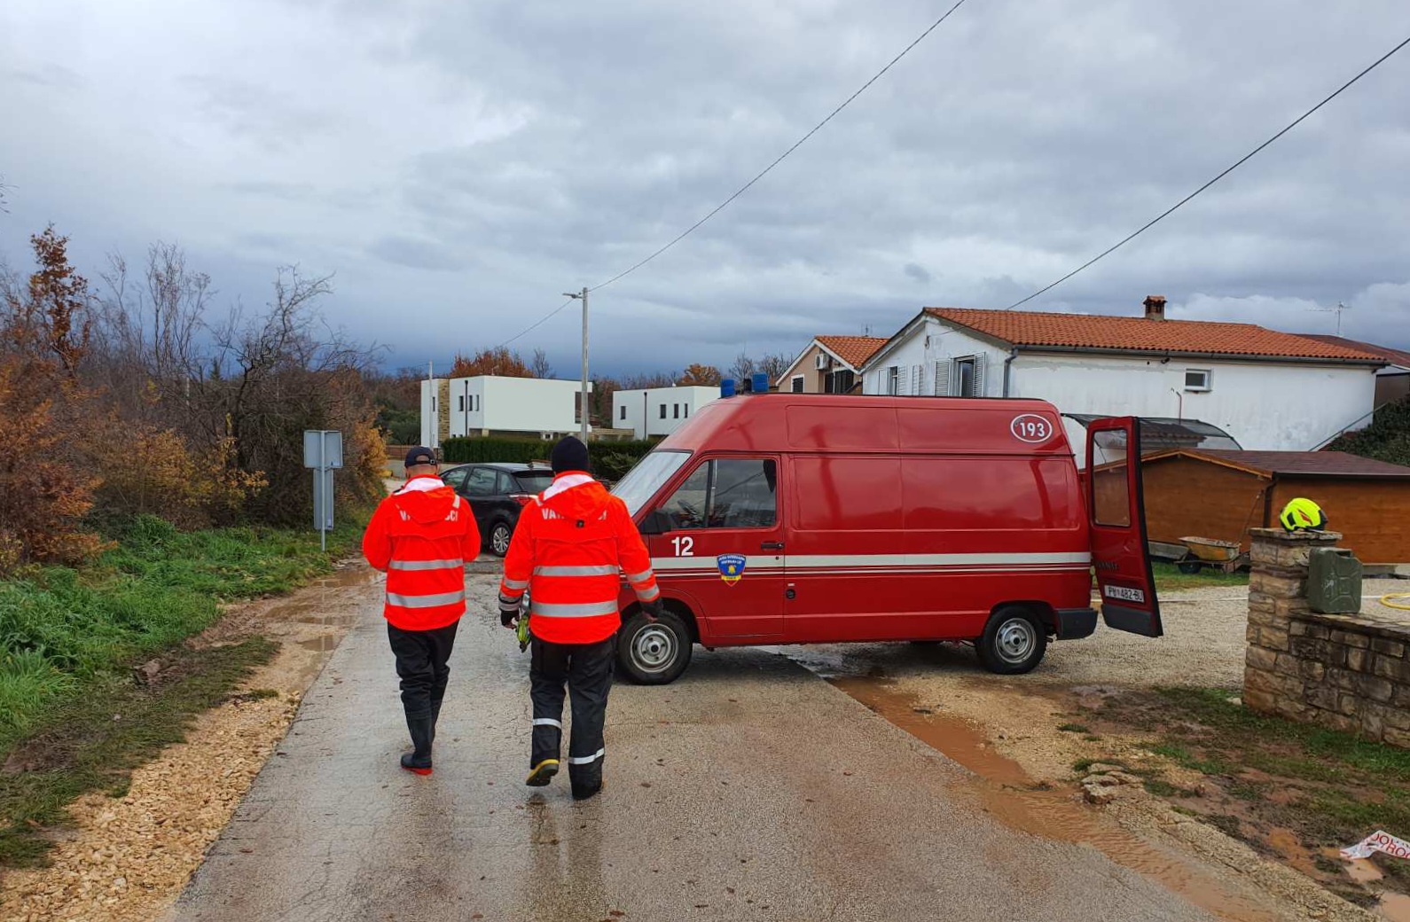
M 439 386 L 437 386 L 439 385 Z M 581 382 L 479 375 L 422 382 L 422 437 L 515 434 L 553 438 L 577 433 Z M 588 391 L 592 391 L 591 382 Z M 433 420 L 440 420 L 434 427 Z M 436 441 L 424 441 L 436 447 Z

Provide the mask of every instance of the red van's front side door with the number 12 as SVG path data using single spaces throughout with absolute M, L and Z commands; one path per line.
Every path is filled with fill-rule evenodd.
M 770 455 L 698 461 L 651 513 L 661 529 L 649 539 L 656 577 L 689 601 L 713 637 L 783 634 L 780 469 Z

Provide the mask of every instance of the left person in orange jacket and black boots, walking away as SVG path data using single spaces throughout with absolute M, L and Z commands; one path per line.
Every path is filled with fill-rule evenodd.
M 412 751 L 402 768 L 431 773 L 431 742 L 450 678 L 455 629 L 465 613 L 465 563 L 479 554 L 470 503 L 440 479 L 430 448 L 406 454 L 406 484 L 382 500 L 362 536 L 362 555 L 386 572 L 386 636 L 402 680 Z

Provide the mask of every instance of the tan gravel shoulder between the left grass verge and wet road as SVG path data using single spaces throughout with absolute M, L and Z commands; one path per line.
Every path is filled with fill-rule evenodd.
M 195 644 L 264 636 L 281 644 L 230 701 L 202 716 L 186 742 L 137 768 L 120 798 L 92 794 L 49 867 L 0 880 L 0 918 L 138 922 L 168 906 L 230 822 L 285 737 L 305 691 L 375 594 L 374 574 L 348 565 L 274 601 L 233 606 Z

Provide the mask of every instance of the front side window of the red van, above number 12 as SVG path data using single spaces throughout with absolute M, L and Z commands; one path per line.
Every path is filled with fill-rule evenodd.
M 671 529 L 771 529 L 778 522 L 773 458 L 706 461 L 666 500 Z

